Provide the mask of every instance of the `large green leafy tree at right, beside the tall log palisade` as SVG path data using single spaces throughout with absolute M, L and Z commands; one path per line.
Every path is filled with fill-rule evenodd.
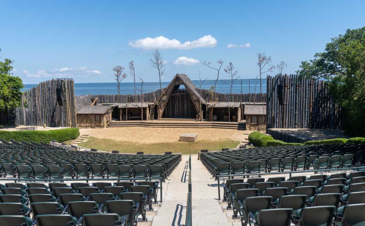
M 342 108 L 343 127 L 350 135 L 365 136 L 365 27 L 331 38 L 324 52 L 301 62 L 297 74 L 328 80 Z

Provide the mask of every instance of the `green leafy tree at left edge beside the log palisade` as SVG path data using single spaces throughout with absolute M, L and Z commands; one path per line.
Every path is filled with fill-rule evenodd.
M 9 59 L 0 61 L 0 110 L 7 110 L 20 105 L 20 90 L 24 86 L 22 79 L 12 75 L 12 63 L 13 61 Z

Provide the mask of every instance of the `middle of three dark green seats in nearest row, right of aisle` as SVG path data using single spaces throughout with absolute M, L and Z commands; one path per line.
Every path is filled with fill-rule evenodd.
M 331 226 L 335 206 L 304 207 L 297 210 L 300 217 L 300 225 Z

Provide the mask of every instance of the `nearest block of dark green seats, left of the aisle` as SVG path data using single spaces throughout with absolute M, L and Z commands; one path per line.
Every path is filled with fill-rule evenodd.
M 6 183 L 0 225 L 137 225 L 157 204 L 158 181 Z M 139 216 L 141 216 L 139 218 Z

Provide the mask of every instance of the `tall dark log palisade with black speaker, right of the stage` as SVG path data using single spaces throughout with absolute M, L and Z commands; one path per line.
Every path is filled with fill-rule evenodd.
M 278 102 L 278 84 L 283 85 L 283 103 Z M 266 128 L 341 129 L 340 107 L 324 80 L 297 75 L 268 76 Z

